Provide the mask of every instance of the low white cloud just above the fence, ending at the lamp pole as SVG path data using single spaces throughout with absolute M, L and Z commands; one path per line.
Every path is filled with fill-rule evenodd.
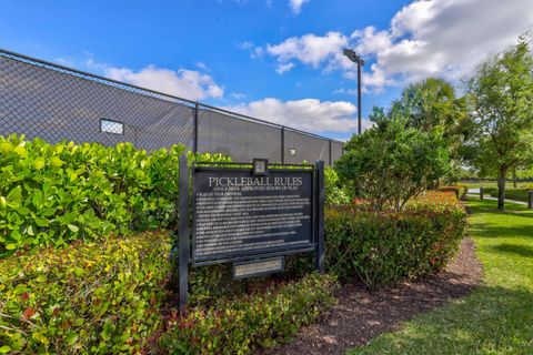
M 228 108 L 258 119 L 310 132 L 354 132 L 356 108 L 346 101 L 303 99 L 281 101 L 266 98 Z

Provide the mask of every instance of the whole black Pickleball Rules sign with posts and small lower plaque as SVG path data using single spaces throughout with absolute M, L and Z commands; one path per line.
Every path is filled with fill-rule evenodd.
M 282 272 L 285 255 L 315 252 L 316 268 L 323 272 L 323 162 L 269 165 L 262 159 L 188 169 L 182 158 L 180 305 L 187 302 L 189 264 L 232 263 L 239 280 Z M 185 212 L 190 181 L 192 233 Z

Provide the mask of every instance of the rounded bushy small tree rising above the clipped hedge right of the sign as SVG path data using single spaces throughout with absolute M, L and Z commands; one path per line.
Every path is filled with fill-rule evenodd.
M 405 203 L 449 170 L 443 130 L 406 126 L 406 119 L 374 110 L 376 125 L 353 135 L 335 162 L 339 178 L 375 210 L 401 211 Z

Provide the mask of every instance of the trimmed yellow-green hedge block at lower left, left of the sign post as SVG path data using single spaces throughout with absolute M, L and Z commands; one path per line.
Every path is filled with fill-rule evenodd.
M 0 349 L 137 352 L 161 325 L 169 253 L 147 233 L 0 261 Z

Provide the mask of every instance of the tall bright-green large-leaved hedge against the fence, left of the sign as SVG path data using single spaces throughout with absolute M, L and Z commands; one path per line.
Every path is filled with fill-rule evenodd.
M 130 143 L 0 138 L 0 257 L 78 239 L 172 229 L 184 151 L 174 145 L 148 154 Z M 228 161 L 220 154 L 189 159 Z

